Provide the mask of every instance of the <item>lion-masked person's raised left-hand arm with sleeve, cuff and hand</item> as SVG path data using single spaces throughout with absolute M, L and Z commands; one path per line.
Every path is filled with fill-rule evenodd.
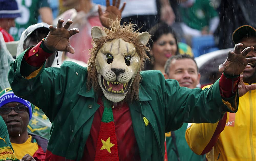
M 79 30 L 68 30 L 72 20 L 62 26 L 63 21 L 59 19 L 56 28 L 50 26 L 50 32 L 44 41 L 20 54 L 8 73 L 8 81 L 14 93 L 41 108 L 50 120 L 56 116 L 61 99 L 67 92 L 67 77 L 76 74 L 70 71 L 75 70 L 75 66 L 44 67 L 45 60 L 56 50 L 74 53 L 69 37 Z

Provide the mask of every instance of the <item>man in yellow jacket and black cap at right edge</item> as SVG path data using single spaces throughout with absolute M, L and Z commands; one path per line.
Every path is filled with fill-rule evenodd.
M 235 50 L 247 47 L 254 50 L 246 58 L 256 57 L 256 29 L 249 25 L 237 28 L 232 34 Z M 191 124 L 186 131 L 190 148 L 208 160 L 256 160 L 256 62 L 248 63 L 238 88 L 249 91 L 240 95 L 237 113 L 227 112 L 215 124 Z M 244 83 L 243 83 L 244 82 Z

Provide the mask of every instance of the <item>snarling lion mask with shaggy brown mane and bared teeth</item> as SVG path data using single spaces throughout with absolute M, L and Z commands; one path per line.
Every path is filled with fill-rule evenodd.
M 89 81 L 96 91 L 99 86 L 112 102 L 124 100 L 127 94 L 130 100 L 138 99 L 139 72 L 148 58 L 145 45 L 150 38 L 148 32 L 134 32 L 133 24 L 120 26 L 119 23 L 112 22 L 111 30 L 104 31 L 98 26 L 92 28 L 94 45 L 88 62 Z M 93 70 L 97 71 L 97 80 Z

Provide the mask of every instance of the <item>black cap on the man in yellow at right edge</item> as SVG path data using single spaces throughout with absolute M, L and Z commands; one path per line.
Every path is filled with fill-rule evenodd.
M 232 40 L 235 44 L 248 37 L 256 37 L 256 29 L 250 25 L 240 26 L 232 34 Z

